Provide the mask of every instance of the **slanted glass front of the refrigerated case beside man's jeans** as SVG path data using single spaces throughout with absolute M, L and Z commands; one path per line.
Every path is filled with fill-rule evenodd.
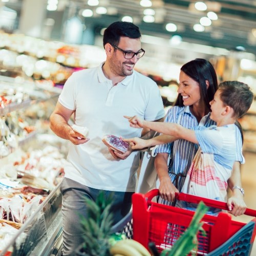
M 60 183 L 18 230 L 1 256 L 50 255 L 62 230 Z

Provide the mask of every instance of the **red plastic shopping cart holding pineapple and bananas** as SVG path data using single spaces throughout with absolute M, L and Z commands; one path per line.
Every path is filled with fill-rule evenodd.
M 153 202 L 159 195 L 158 189 L 147 194 L 133 195 L 133 239 L 146 248 L 154 242 L 158 251 L 172 247 L 189 226 L 195 212 Z M 203 201 L 207 206 L 227 210 L 226 203 L 178 193 L 178 200 L 189 203 Z M 256 211 L 246 209 L 246 215 L 256 217 Z M 256 234 L 254 218 L 249 223 L 231 219 L 230 214 L 221 212 L 218 216 L 204 215 L 203 229 L 198 232 L 198 255 L 249 255 Z

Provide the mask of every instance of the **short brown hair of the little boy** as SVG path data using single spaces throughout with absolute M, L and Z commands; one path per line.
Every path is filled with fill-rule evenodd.
M 253 100 L 253 93 L 246 83 L 239 81 L 224 81 L 219 84 L 221 101 L 230 106 L 234 111 L 234 117 L 243 116 Z

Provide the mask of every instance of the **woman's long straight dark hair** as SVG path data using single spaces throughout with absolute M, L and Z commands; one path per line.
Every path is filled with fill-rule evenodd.
M 200 87 L 200 97 L 204 100 L 205 105 L 210 109 L 209 102 L 214 98 L 215 92 L 218 90 L 218 79 L 214 67 L 206 59 L 194 59 L 185 63 L 181 67 L 187 76 L 197 81 Z M 206 81 L 209 82 L 207 89 Z M 176 106 L 184 106 L 181 94 L 175 102 Z

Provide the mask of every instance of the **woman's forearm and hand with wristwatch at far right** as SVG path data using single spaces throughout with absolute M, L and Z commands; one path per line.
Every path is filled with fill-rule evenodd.
M 227 200 L 227 205 L 229 209 L 231 209 L 231 205 L 233 205 L 233 209 L 230 213 L 234 216 L 239 216 L 244 214 L 246 210 L 246 204 L 244 202 L 243 194 L 239 189 L 233 189 L 234 186 L 242 187 L 241 184 L 241 173 L 240 173 L 240 162 L 235 161 L 232 173 L 230 178 L 227 181 L 229 188 L 231 189 L 231 197 Z

